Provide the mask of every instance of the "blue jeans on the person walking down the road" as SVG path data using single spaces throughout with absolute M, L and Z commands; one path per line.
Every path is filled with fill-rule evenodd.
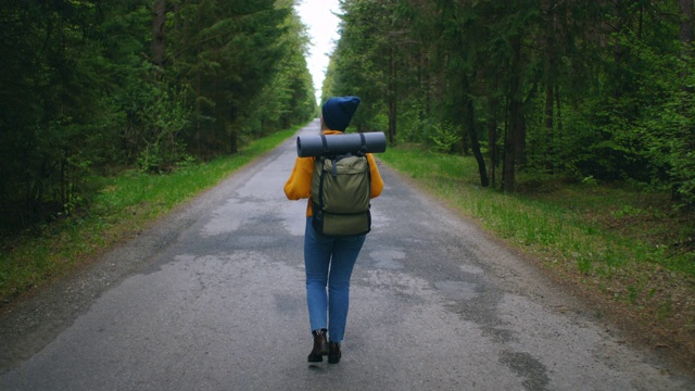
M 350 276 L 365 237 L 366 235 L 346 238 L 324 236 L 312 226 L 312 217 L 306 219 L 304 267 L 308 318 L 312 330 L 328 329 L 331 342 L 342 342 L 345 335 Z

